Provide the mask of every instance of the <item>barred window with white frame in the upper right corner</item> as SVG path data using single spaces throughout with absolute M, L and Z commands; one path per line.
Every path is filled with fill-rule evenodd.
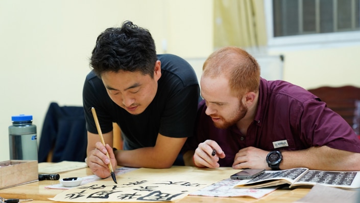
M 360 0 L 264 0 L 269 46 L 360 42 Z

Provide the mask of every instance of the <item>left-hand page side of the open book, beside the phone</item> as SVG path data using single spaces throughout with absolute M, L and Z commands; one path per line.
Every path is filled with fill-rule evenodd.
M 263 188 L 283 184 L 294 184 L 304 173 L 307 168 L 294 168 L 281 171 L 265 171 L 265 173 L 251 179 L 250 181 L 241 181 L 235 187 L 241 188 Z

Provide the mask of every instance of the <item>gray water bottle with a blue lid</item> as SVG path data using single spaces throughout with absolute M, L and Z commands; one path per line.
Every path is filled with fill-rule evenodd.
M 36 125 L 32 115 L 11 117 L 9 126 L 10 160 L 38 160 Z

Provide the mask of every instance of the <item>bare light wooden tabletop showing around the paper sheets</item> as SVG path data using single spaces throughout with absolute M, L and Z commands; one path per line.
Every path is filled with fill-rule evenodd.
M 84 177 L 92 175 L 89 168 L 77 169 L 60 173 L 61 178 L 65 177 Z M 55 195 L 63 192 L 59 189 L 48 189 L 45 188 L 49 185 L 59 184 L 59 181 L 39 181 L 29 183 L 25 185 L 15 186 L 0 190 L 0 196 L 4 198 L 19 198 L 19 199 L 33 199 L 33 201 L 27 201 L 29 203 L 49 203 L 56 202 L 47 198 L 52 198 Z M 274 192 L 268 194 L 260 199 L 252 197 L 204 197 L 204 196 L 186 196 L 175 202 L 179 203 L 193 203 L 193 202 L 267 202 L 267 203 L 287 203 L 294 202 L 304 197 L 310 189 L 308 188 L 297 188 L 297 189 L 277 189 Z

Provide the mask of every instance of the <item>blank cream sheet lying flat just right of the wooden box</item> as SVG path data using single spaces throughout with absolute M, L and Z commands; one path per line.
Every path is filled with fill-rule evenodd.
M 86 168 L 85 162 L 62 161 L 58 163 L 42 162 L 38 165 L 39 173 L 61 173 L 81 168 Z

